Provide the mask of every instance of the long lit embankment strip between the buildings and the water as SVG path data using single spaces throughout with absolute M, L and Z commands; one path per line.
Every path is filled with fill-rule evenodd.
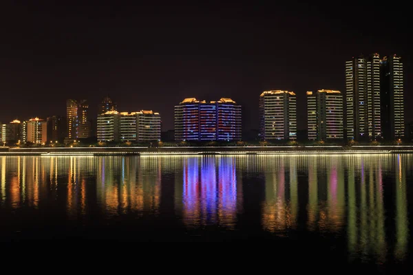
M 41 155 L 366 155 L 413 153 L 413 146 L 187 146 L 187 147 L 0 147 L 1 156 Z

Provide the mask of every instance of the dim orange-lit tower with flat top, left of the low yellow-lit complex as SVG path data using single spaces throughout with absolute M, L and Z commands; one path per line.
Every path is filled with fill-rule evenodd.
M 67 137 L 70 140 L 89 137 L 86 100 L 67 100 Z

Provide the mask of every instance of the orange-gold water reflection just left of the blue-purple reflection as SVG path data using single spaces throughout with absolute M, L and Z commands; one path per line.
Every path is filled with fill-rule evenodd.
M 136 211 L 158 214 L 161 166 L 158 159 L 99 157 L 97 200 L 109 217 Z

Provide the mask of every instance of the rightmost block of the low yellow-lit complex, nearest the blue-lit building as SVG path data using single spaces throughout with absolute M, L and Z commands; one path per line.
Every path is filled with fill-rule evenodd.
M 161 121 L 159 113 L 139 111 L 136 113 L 136 140 L 138 142 L 160 141 Z

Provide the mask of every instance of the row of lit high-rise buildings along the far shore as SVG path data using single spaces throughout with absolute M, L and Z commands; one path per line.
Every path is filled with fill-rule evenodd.
M 306 140 L 400 141 L 404 139 L 405 131 L 409 132 L 411 129 L 409 123 L 405 124 L 403 72 L 403 61 L 396 54 L 383 56 L 383 58 L 380 58 L 378 53 L 367 57 L 353 56 L 352 61 L 346 61 L 345 96 L 337 90 L 319 89 L 316 93 L 306 92 L 308 114 Z M 231 98 L 220 98 L 218 101 L 185 98 L 174 109 L 175 141 L 240 141 L 243 139 L 242 106 Z M 98 104 L 96 133 L 92 130 L 95 117 L 94 115 L 88 116 L 88 110 L 87 100 L 68 99 L 66 129 L 62 129 L 63 121 L 57 118 L 59 116 L 47 117 L 47 133 L 46 128 L 43 131 L 41 130 L 43 127 L 40 127 L 40 139 L 37 139 L 38 131 L 36 130 L 32 138 L 25 140 L 23 130 L 23 142 L 36 144 L 44 144 L 45 141 L 58 142 L 65 138 L 63 137 L 65 132 L 67 132 L 68 140 L 89 137 L 97 137 L 99 142 L 161 140 L 162 122 L 159 113 L 152 111 L 130 114 L 118 112 L 116 102 L 109 96 L 105 96 Z M 137 116 L 133 122 L 129 116 L 135 114 Z M 142 114 L 141 117 L 145 120 L 140 122 L 139 114 Z M 153 115 L 156 116 L 155 120 L 151 118 Z M 25 120 L 23 123 L 30 123 L 32 120 Z M 39 118 L 36 117 L 37 120 Z M 19 127 L 16 122 L 19 121 L 0 124 L 0 141 L 3 144 L 19 140 L 17 136 Z M 46 122 L 44 124 L 46 125 Z M 132 133 L 135 127 L 136 133 Z M 297 96 L 294 91 L 262 92 L 259 128 L 260 133 L 255 138 L 263 141 L 297 140 L 299 136 Z M 21 129 L 25 129 L 25 126 Z M 142 133 L 145 132 L 144 136 L 140 136 L 141 130 Z M 42 135 L 44 141 L 41 138 Z M 411 139 L 411 134 L 407 137 Z M 300 134 L 299 139 L 304 139 L 303 133 Z

